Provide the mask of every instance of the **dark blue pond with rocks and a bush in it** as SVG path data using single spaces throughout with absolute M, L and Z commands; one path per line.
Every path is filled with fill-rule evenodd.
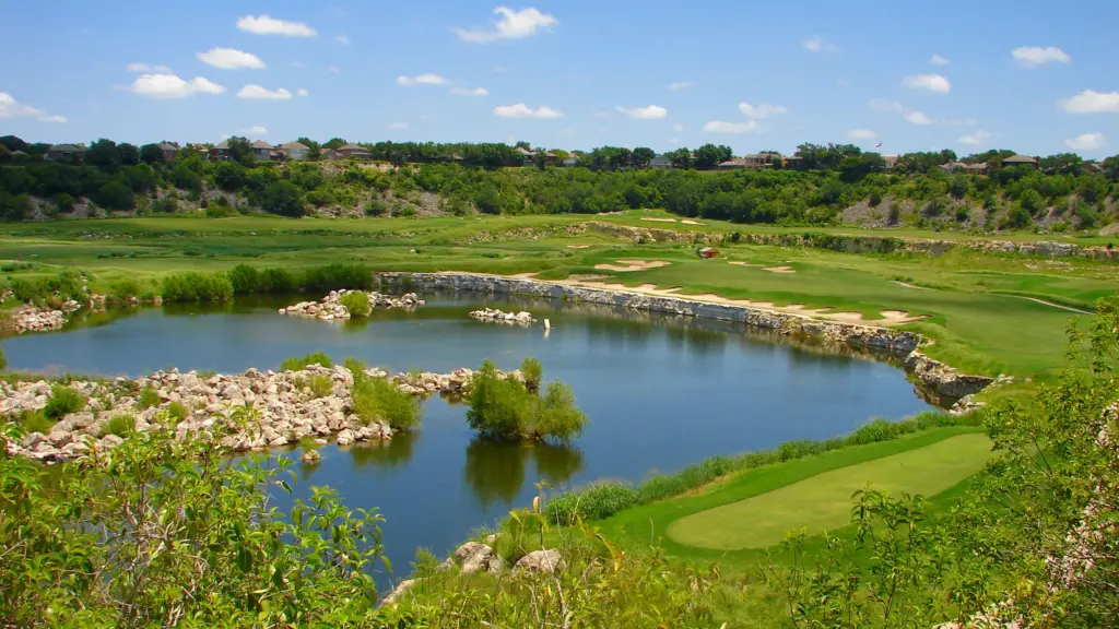
M 337 362 L 352 356 L 392 370 L 439 373 L 477 368 L 485 358 L 513 369 L 535 356 L 545 381 L 570 384 L 590 417 L 570 445 L 478 440 L 464 406 L 434 397 L 414 434 L 349 450 L 331 444 L 319 464 L 297 463 L 297 496 L 329 485 L 350 507 L 379 509 L 396 578 L 408 572 L 415 548 L 443 554 L 471 529 L 528 505 L 539 480 L 638 482 L 715 454 L 825 439 L 873 416 L 929 409 L 894 366 L 794 347 L 741 325 L 513 298 L 423 297 L 427 304 L 414 312 L 382 310 L 347 323 L 276 313 L 298 297 L 142 309 L 2 345 L 13 370 L 128 376 L 169 366 L 275 369 L 316 350 Z M 553 329 L 467 316 L 483 306 L 530 310 Z

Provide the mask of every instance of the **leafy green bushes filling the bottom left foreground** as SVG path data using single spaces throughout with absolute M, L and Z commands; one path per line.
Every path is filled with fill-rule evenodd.
M 290 513 L 262 488 L 283 459 L 134 435 L 50 473 L 0 436 L 0 623 L 379 627 L 380 516 L 314 488 Z

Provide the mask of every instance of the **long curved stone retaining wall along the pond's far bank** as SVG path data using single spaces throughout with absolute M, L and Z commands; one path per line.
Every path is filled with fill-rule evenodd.
M 582 285 L 480 275 L 472 273 L 380 273 L 386 285 L 412 285 L 423 292 L 463 291 L 487 294 L 515 294 L 540 299 L 575 301 L 630 310 L 650 311 L 678 317 L 696 317 L 743 323 L 798 339 L 816 339 L 825 345 L 885 351 L 905 358 L 906 370 L 914 373 L 921 385 L 939 398 L 955 402 L 978 393 L 991 378 L 960 374 L 915 351 L 924 338 L 905 330 L 822 321 L 803 314 L 771 312 L 746 306 L 712 303 L 683 297 L 600 289 Z M 912 360 L 910 357 L 913 356 Z M 916 373 L 920 367 L 920 373 Z

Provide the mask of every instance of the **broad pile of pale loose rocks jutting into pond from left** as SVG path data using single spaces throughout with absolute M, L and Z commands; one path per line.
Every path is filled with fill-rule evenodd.
M 383 369 L 367 369 L 369 377 L 387 377 L 410 395 L 435 393 L 461 396 L 469 393 L 473 372 L 455 369 L 451 374 L 407 373 L 389 376 Z M 499 373 L 500 377 L 524 382 L 519 370 Z M 332 385 L 326 395 L 311 389 L 311 378 L 328 377 Z M 73 382 L 69 384 L 85 406 L 63 416 L 46 434 L 32 432 L 20 442 L 9 442 L 8 453 L 54 462 L 76 458 L 90 449 L 105 450 L 122 443 L 110 434 L 113 417 L 126 416 L 135 432 L 172 430 L 184 441 L 213 435 L 216 428 L 228 432 L 220 444 L 233 451 L 262 450 L 316 439 L 326 443 L 335 436 L 339 445 L 358 441 L 392 438 L 392 429 L 382 422 L 364 422 L 352 413 L 352 373 L 342 366 L 308 366 L 298 372 L 258 372 L 237 375 L 203 376 L 196 372 L 157 372 L 129 381 Z M 150 389 L 151 405 L 140 400 Z M 12 421 L 25 413 L 46 407 L 51 383 L 46 381 L 9 384 L 0 382 L 0 416 Z M 252 407 L 252 412 L 246 412 Z M 171 417 L 173 413 L 180 417 Z M 246 421 L 247 420 L 247 421 Z

